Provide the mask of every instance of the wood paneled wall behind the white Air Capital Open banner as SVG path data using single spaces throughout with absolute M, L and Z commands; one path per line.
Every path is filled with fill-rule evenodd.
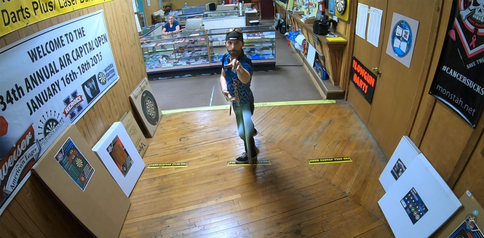
M 100 9 L 104 10 L 120 80 L 76 124 L 90 146 L 94 146 L 107 129 L 132 108 L 128 96 L 141 79 L 146 77 L 131 2 L 115 0 L 77 10 L 32 24 L 0 38 L 0 47 L 4 47 L 53 25 Z M 19 193 L 0 216 L 0 235 L 2 237 L 90 236 L 35 175 L 32 175 L 20 188 Z

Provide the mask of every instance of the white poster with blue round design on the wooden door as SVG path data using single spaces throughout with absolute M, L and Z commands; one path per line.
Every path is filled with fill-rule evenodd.
M 415 39 L 417 38 L 418 21 L 393 13 L 391 27 L 387 54 L 410 68 Z

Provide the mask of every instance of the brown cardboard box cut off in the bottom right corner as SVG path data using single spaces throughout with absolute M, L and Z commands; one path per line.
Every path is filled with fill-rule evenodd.
M 471 192 L 467 191 L 459 201 L 464 206 L 439 229 L 434 237 L 482 238 L 484 237 L 484 209 Z

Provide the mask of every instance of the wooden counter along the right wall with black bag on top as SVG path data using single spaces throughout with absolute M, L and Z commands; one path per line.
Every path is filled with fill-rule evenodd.
M 301 28 L 301 31 L 306 37 L 306 41 L 310 42 L 314 48 L 316 48 L 319 54 L 325 55 L 325 68 L 328 74 L 328 78 L 331 80 L 333 85 L 340 85 L 341 77 L 341 67 L 343 63 L 343 51 L 347 44 L 346 41 L 329 41 L 328 37 L 322 35 L 316 35 L 312 31 L 312 24 L 304 24 L 301 21 L 299 15 L 289 14 L 292 18 L 292 24 L 294 27 Z M 336 33 L 338 36 L 343 36 L 339 32 Z M 317 39 L 317 41 L 315 41 Z

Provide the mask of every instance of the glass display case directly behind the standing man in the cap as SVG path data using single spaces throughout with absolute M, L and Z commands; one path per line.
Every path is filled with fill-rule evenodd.
M 240 27 L 244 35 L 244 52 L 252 63 L 276 62 L 276 30 L 273 26 Z M 225 35 L 229 28 L 208 30 L 210 63 L 220 64 L 227 53 Z

